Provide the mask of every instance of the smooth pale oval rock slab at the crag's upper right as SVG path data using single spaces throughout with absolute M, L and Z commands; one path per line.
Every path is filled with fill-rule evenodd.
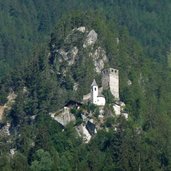
M 83 44 L 83 47 L 89 47 L 96 43 L 97 40 L 97 33 L 94 30 L 91 30 L 89 34 L 87 35 L 87 38 Z

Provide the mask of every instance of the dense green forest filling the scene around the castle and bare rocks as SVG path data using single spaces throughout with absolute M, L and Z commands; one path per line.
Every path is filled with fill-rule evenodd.
M 10 92 L 17 95 L 0 121 L 0 133 L 10 123 L 10 135 L 0 134 L 0 170 L 171 170 L 169 0 L 6 0 L 0 8 L 0 107 Z M 108 118 L 88 144 L 74 123 L 64 128 L 49 116 L 70 99 L 81 101 L 93 78 L 100 82 L 93 50 L 73 33 L 81 26 L 97 32 L 106 67 L 119 69 L 129 113 L 127 121 Z M 57 50 L 75 46 L 74 66 L 57 62 Z

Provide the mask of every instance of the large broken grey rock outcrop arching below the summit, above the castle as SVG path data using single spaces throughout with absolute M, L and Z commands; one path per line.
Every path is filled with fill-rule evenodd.
M 67 68 L 76 64 L 79 60 L 80 54 L 83 53 L 83 48 L 89 49 L 89 57 L 93 59 L 94 70 L 97 73 L 101 73 L 104 69 L 105 63 L 108 61 L 106 52 L 102 47 L 97 47 L 95 49 L 95 44 L 97 44 L 98 34 L 94 31 L 88 31 L 86 27 L 78 27 L 71 31 L 64 40 L 64 45 L 59 49 L 56 49 L 55 45 L 52 45 L 52 54 L 55 55 L 55 60 L 62 66 L 66 66 L 64 71 L 59 71 L 64 74 L 67 72 Z M 74 46 L 73 46 L 74 45 Z M 86 54 L 85 54 L 86 55 Z

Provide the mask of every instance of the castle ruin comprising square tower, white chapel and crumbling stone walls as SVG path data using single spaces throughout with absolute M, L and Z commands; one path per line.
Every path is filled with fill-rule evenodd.
M 79 110 L 84 103 L 90 102 L 99 106 L 99 109 L 101 110 L 99 118 L 101 117 L 101 120 L 103 120 L 103 107 L 106 104 L 106 100 L 102 95 L 102 91 L 110 90 L 115 100 L 115 103 L 112 104 L 115 116 L 122 115 L 125 117 L 125 119 L 127 119 L 128 114 L 124 112 L 125 103 L 119 100 L 119 71 L 113 68 L 103 70 L 101 81 L 102 87 L 98 87 L 96 80 L 93 80 L 90 87 L 90 93 L 83 96 L 83 102 L 70 100 L 65 104 L 63 109 L 55 113 L 49 113 L 51 117 L 65 127 L 68 123 L 76 121 L 76 118 L 71 113 L 71 110 Z M 84 143 L 88 143 L 91 137 L 97 133 L 96 128 L 99 129 L 98 124 L 94 122 L 94 119 L 91 116 L 91 112 L 87 113 L 84 111 L 81 113 L 81 117 L 83 122 L 80 125 L 75 126 L 75 129 L 78 135 L 83 138 Z

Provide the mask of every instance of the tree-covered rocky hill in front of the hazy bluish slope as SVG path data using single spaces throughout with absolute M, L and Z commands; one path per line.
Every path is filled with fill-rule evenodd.
M 170 71 L 129 29 L 96 11 L 72 12 L 33 54 L 1 79 L 1 106 L 15 97 L 2 111 L 1 170 L 170 169 Z M 119 88 L 100 92 L 112 70 Z M 93 97 L 105 98 L 103 113 L 93 99 L 82 102 L 91 84 Z M 119 100 L 128 119 L 116 116 Z M 84 123 L 87 144 L 76 131 Z

